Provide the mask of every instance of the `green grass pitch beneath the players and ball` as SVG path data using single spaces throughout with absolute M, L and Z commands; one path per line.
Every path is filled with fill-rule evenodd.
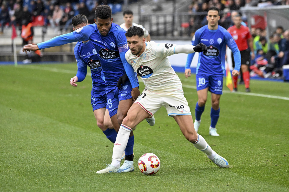
M 113 145 L 92 113 L 91 78 L 70 85 L 76 71 L 76 64 L 0 66 L 0 191 L 289 191 L 289 83 L 252 80 L 250 94 L 244 85 L 238 93 L 224 87 L 219 137 L 209 136 L 208 94 L 199 134 L 229 169 L 195 149 L 162 108 L 155 126 L 143 121 L 134 132 L 135 171 L 96 174 L 110 164 Z M 195 76 L 178 75 L 194 117 Z M 148 152 L 161 161 L 153 176 L 137 166 Z

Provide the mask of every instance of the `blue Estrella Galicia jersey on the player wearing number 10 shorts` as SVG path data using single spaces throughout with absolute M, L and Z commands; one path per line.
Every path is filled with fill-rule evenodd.
M 217 30 L 209 30 L 208 25 L 205 25 L 196 31 L 192 39 L 192 45 L 196 46 L 199 43 L 207 45 L 208 52 L 199 53 L 196 74 L 223 76 L 226 45 L 231 50 L 237 47 L 233 37 L 221 26 L 218 26 Z

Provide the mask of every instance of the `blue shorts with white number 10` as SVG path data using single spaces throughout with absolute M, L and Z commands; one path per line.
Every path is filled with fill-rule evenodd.
M 209 91 L 214 94 L 222 95 L 223 77 L 216 75 L 197 74 L 197 91 L 209 88 Z

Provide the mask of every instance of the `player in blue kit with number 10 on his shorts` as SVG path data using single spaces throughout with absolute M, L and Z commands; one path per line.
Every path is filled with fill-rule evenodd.
M 194 128 L 196 132 L 201 124 L 201 115 L 205 109 L 208 98 L 208 90 L 211 92 L 212 108 L 211 108 L 211 126 L 209 134 L 219 136 L 216 131 L 216 124 L 220 114 L 220 98 L 223 91 L 223 75 L 225 74 L 225 55 L 226 45 L 232 50 L 235 60 L 235 68 L 232 75 L 238 76 L 241 66 L 240 51 L 230 33 L 223 27 L 218 25 L 220 20 L 219 10 L 212 7 L 208 10 L 208 25 L 198 29 L 192 39 L 192 45 L 204 43 L 208 47 L 208 52 L 199 53 L 197 64 L 196 80 L 198 102 L 196 104 Z M 188 54 L 185 77 L 191 76 L 190 64 L 195 53 Z

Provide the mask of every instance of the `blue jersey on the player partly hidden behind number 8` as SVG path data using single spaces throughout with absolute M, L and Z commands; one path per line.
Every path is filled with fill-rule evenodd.
M 92 88 L 94 90 L 104 90 L 104 79 L 102 73 L 102 67 L 100 63 L 100 58 L 94 52 L 94 45 L 91 41 L 86 43 L 77 42 L 74 47 L 74 55 L 77 61 L 77 67 L 90 67 Z

